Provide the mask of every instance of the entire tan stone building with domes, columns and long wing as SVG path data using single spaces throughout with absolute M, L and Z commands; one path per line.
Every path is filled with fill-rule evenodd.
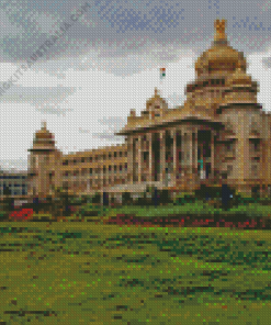
M 225 26 L 215 21 L 214 42 L 195 63 L 184 104 L 169 109 L 155 89 L 142 115 L 132 110 L 116 134 L 124 145 L 63 155 L 45 125 L 30 149 L 30 193 L 46 195 L 59 186 L 78 194 L 120 192 L 136 183 L 178 192 L 222 182 L 268 193 L 271 115 L 257 103 L 258 83 Z

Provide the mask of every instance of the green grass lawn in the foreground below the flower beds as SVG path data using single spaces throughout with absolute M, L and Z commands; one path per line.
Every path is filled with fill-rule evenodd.
M 270 231 L 1 223 L 0 245 L 0 324 L 270 324 Z

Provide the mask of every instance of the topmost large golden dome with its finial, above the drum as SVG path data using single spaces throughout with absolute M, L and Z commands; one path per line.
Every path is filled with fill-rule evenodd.
M 205 51 L 195 63 L 197 75 L 201 75 L 204 70 L 208 71 L 212 67 L 216 67 L 216 69 L 221 67 L 223 70 L 233 70 L 239 65 L 246 70 L 247 63 L 244 58 L 244 54 L 228 45 L 225 26 L 225 20 L 215 21 L 216 34 L 214 36 L 213 46 Z

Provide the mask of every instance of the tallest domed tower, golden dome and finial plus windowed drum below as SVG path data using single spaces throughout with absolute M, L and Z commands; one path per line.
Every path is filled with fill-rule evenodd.
M 187 86 L 187 101 L 207 110 L 216 110 L 223 101 L 227 79 L 237 67 L 246 72 L 247 61 L 244 54 L 234 49 L 225 33 L 226 21 L 215 21 L 214 41 L 195 63 L 196 79 Z M 211 112 L 212 115 L 216 112 Z

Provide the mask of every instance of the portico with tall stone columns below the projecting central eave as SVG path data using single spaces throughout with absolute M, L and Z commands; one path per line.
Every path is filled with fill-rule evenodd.
M 162 182 L 174 188 L 199 184 L 213 179 L 215 168 L 215 130 L 200 125 L 174 125 L 127 136 L 129 183 Z

